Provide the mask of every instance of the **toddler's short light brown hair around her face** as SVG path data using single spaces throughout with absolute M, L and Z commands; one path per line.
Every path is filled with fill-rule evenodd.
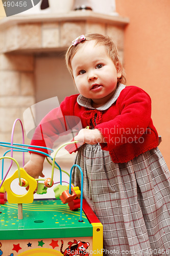
M 126 78 L 125 78 L 125 70 L 123 68 L 122 62 L 120 61 L 120 58 L 118 56 L 117 52 L 117 47 L 114 44 L 113 40 L 109 36 L 101 35 L 101 34 L 87 34 L 85 35 L 85 40 L 80 42 L 80 44 L 77 44 L 76 46 L 70 46 L 65 54 L 65 60 L 66 60 L 66 66 L 72 76 L 74 78 L 73 73 L 72 73 L 72 67 L 71 67 L 71 60 L 75 56 L 77 50 L 79 49 L 81 44 L 84 44 L 86 41 L 89 40 L 95 40 L 95 45 L 103 45 L 106 47 L 106 51 L 109 55 L 109 57 L 112 59 L 115 68 L 118 71 L 122 72 L 122 76 L 120 78 L 117 78 L 117 82 L 120 83 L 126 83 Z

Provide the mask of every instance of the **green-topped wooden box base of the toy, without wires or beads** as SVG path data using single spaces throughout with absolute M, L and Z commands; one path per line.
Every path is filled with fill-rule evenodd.
M 103 252 L 103 226 L 83 200 L 80 210 L 71 211 L 61 200 L 34 200 L 23 204 L 18 220 L 17 205 L 1 205 L 0 255 L 50 256 L 92 255 Z

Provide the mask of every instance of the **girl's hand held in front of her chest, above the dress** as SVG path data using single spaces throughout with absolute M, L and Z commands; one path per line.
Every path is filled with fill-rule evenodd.
M 74 140 L 78 140 L 79 142 L 84 142 L 87 144 L 94 145 L 96 143 L 105 143 L 105 139 L 101 132 L 98 129 L 89 130 L 89 129 L 81 129 L 77 136 L 75 136 Z

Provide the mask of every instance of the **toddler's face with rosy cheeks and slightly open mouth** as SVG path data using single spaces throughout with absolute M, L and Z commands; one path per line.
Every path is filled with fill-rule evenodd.
M 117 86 L 117 73 L 105 46 L 96 45 L 95 40 L 86 41 L 71 60 L 76 86 L 84 97 L 92 99 L 92 106 L 98 108 L 114 94 Z

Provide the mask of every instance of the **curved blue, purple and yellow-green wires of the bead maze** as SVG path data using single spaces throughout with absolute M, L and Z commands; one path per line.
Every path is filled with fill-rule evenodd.
M 20 143 L 13 143 L 14 129 L 15 129 L 16 122 L 19 122 L 20 125 L 21 125 L 22 144 L 20 144 Z M 51 157 L 50 155 L 48 155 L 47 153 L 44 153 L 44 152 L 41 151 L 41 149 L 42 149 L 42 150 L 45 149 L 45 150 L 50 151 L 50 154 L 51 154 L 52 152 L 54 152 L 52 148 L 43 147 L 43 146 L 35 146 L 35 145 L 33 146 L 33 145 L 27 145 L 27 144 L 25 144 L 24 131 L 23 131 L 22 122 L 21 122 L 20 119 L 16 119 L 16 120 L 14 121 L 14 124 L 13 124 L 13 127 L 12 127 L 11 143 L 9 143 L 9 142 L 0 142 L 0 146 L 10 148 L 10 150 L 8 150 L 8 151 L 5 152 L 5 154 L 3 155 L 3 157 L 0 157 L 0 160 L 3 160 L 3 161 L 2 161 L 2 182 L 1 182 L 1 184 L 0 184 L 0 189 L 1 189 L 1 187 L 2 187 L 2 185 L 3 185 L 3 183 L 4 183 L 4 181 L 5 181 L 5 179 L 6 179 L 7 175 L 8 175 L 8 173 L 9 173 L 11 167 L 12 167 L 12 163 L 13 163 L 13 162 L 15 162 L 16 165 L 17 165 L 19 185 L 21 186 L 20 167 L 19 167 L 18 162 L 13 158 L 13 152 L 14 152 L 14 151 L 15 151 L 15 152 L 22 152 L 22 153 L 23 153 L 23 155 L 22 155 L 22 162 L 23 162 L 22 164 L 23 164 L 23 166 L 25 165 L 25 152 L 40 153 L 40 154 L 44 155 L 44 156 L 46 157 L 46 159 L 47 159 L 47 162 L 52 165 L 52 175 L 51 175 L 51 181 L 50 181 L 50 184 L 49 184 L 49 185 L 50 185 L 50 186 L 53 185 L 52 183 L 53 183 L 53 179 L 54 179 L 54 168 L 57 168 L 57 169 L 59 169 L 59 172 L 60 172 L 60 181 L 59 181 L 59 182 L 56 182 L 56 183 L 54 183 L 54 184 L 60 183 L 60 184 L 62 185 L 62 182 L 66 182 L 66 181 L 62 181 L 62 172 L 66 173 L 66 174 L 69 176 L 69 194 L 71 194 L 71 186 L 72 186 L 72 184 L 71 184 L 71 176 L 72 176 L 72 170 L 74 169 L 74 167 L 78 167 L 79 170 L 80 170 L 80 173 L 81 173 L 80 222 L 82 222 L 82 208 L 83 208 L 83 207 L 82 207 L 82 205 L 83 205 L 83 172 L 82 172 L 82 169 L 81 169 L 81 167 L 80 167 L 79 165 L 74 164 L 74 165 L 72 165 L 72 167 L 71 167 L 71 169 L 70 169 L 70 175 L 69 175 L 67 172 L 65 172 L 64 170 L 62 170 L 61 167 L 60 167 L 60 166 L 57 164 L 57 162 L 55 161 L 56 155 L 57 155 L 57 153 L 59 152 L 59 150 L 60 150 L 62 147 L 66 146 L 66 145 L 68 145 L 68 144 L 77 143 L 77 142 L 79 142 L 79 141 L 71 141 L 71 142 L 67 142 L 67 143 L 62 144 L 61 146 L 59 146 L 59 148 L 57 148 L 57 150 L 56 150 L 56 152 L 55 152 L 55 154 L 54 154 L 54 157 L 52 158 L 52 157 Z M 29 148 L 28 148 L 28 147 L 29 147 Z M 34 150 L 34 149 L 32 149 L 31 147 L 34 147 L 34 148 L 36 147 L 36 148 L 38 148 L 39 150 Z M 9 152 L 11 152 L 11 156 L 10 156 L 10 157 L 7 157 L 6 154 L 9 153 Z M 7 173 L 4 175 L 4 159 L 7 159 L 7 158 L 8 158 L 8 159 L 11 159 L 11 163 L 10 163 L 10 166 L 9 166 L 9 168 L 8 168 L 8 170 L 7 170 Z M 50 159 L 52 160 L 52 163 L 48 160 L 48 158 L 50 158 Z M 39 180 L 45 181 L 45 179 L 35 179 L 35 180 L 36 180 L 36 181 L 39 181 Z M 66 183 L 68 183 L 68 182 L 66 182 Z

